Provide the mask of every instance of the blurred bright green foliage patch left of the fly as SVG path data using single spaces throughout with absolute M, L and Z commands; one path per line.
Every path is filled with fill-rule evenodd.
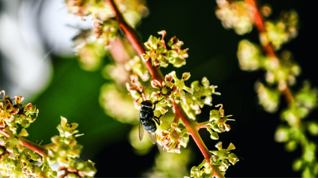
M 78 123 L 78 130 L 84 133 L 84 136 L 78 138 L 78 142 L 84 146 L 81 156 L 84 160 L 86 156 L 93 156 L 91 154 L 98 152 L 105 143 L 112 145 L 125 141 L 130 125 L 107 116 L 98 103 L 100 87 L 107 82 L 100 71 L 82 70 L 76 58 L 54 57 L 52 60 L 52 82 L 45 92 L 32 101 L 39 106 L 40 113 L 36 122 L 28 128 L 28 139 L 33 142 L 43 140 L 43 144 L 50 143 L 50 138 L 58 134 L 56 125 L 62 115 L 69 122 Z M 122 132 L 118 132 L 118 128 Z

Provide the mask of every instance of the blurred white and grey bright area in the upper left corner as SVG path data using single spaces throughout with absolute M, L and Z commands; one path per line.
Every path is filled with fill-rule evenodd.
M 0 90 L 30 101 L 51 81 L 50 54 L 73 56 L 72 38 L 92 21 L 68 13 L 63 0 L 0 2 Z

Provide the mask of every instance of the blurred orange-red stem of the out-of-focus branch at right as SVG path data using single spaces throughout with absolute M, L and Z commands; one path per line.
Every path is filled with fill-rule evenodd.
M 245 2 L 250 4 L 256 10 L 254 14 L 254 24 L 258 32 L 266 33 L 264 19 L 259 13 L 259 9 L 257 7 L 256 2 L 254 0 L 245 0 Z M 263 49 L 269 57 L 277 58 L 277 54 L 275 53 L 273 46 L 270 43 L 263 46 Z M 287 105 L 292 105 L 294 103 L 293 95 L 290 92 L 288 86 L 284 90 L 282 90 L 281 93 L 284 95 Z

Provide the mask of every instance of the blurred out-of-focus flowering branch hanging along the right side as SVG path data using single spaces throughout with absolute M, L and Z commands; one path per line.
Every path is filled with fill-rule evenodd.
M 263 16 L 261 16 L 255 0 L 245 0 L 245 3 L 241 4 L 233 1 L 217 0 L 217 3 L 216 14 L 222 20 L 225 28 L 233 28 L 239 35 L 250 32 L 253 24 L 258 30 L 260 44 L 267 56 L 262 55 L 257 45 L 248 40 L 242 40 L 239 42 L 237 51 L 240 68 L 246 71 L 265 69 L 266 82 L 278 84 L 277 89 L 271 89 L 257 82 L 259 103 L 263 105 L 266 111 L 275 112 L 278 109 L 280 94 L 284 95 L 288 107 L 281 112 L 280 117 L 288 125 L 280 125 L 277 128 L 275 140 L 286 143 L 285 149 L 288 152 L 294 151 L 297 145 L 300 145 L 302 156 L 294 161 L 293 170 L 303 170 L 302 177 L 316 177 L 317 171 L 313 170 L 316 170 L 315 168 L 318 165 L 315 157 L 317 146 L 306 137 L 306 132 L 308 130 L 311 135 L 317 136 L 318 124 L 315 121 L 303 123 L 301 120 L 308 116 L 310 110 L 316 107 L 318 92 L 316 89 L 311 89 L 308 82 L 304 82 L 304 87 L 293 95 L 287 87 L 287 82 L 289 85 L 294 85 L 295 77 L 299 75 L 301 68 L 293 61 L 289 61 L 290 52 L 283 51 L 281 53 L 282 60 L 279 60 L 278 55 L 274 52 L 274 50 L 280 49 L 283 43 L 297 36 L 297 13 L 291 10 L 288 13 L 282 13 L 278 22 L 265 22 L 263 16 L 268 16 L 271 10 L 269 7 L 262 7 Z M 224 15 L 224 12 L 229 10 L 232 14 L 235 14 L 235 18 Z M 235 20 L 231 21 L 231 19 Z M 245 20 L 242 23 L 237 19 Z M 284 39 L 280 38 L 279 35 L 284 36 Z M 201 123 L 197 124 L 197 129 L 204 126 Z M 208 127 L 206 128 L 208 129 Z M 296 132 L 297 134 L 295 134 Z M 307 156 L 309 151 L 311 153 L 310 159 Z

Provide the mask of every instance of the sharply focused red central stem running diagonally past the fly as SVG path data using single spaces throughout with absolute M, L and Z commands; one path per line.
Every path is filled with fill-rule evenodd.
M 116 16 L 116 18 L 118 20 L 119 27 L 127 35 L 128 40 L 132 43 L 132 45 L 134 46 L 134 48 L 136 49 L 138 54 L 139 55 L 145 54 L 146 50 L 145 50 L 145 48 L 143 46 L 143 43 L 139 39 L 139 37 L 136 34 L 135 30 L 133 28 L 131 28 L 125 22 L 123 16 L 121 15 L 121 13 L 119 12 L 116 4 L 114 3 L 114 0 L 106 0 L 106 1 L 113 8 L 113 10 L 115 12 L 115 16 Z M 145 62 L 145 64 L 146 64 L 146 66 L 147 66 L 147 68 L 149 70 L 149 73 L 152 75 L 152 79 L 156 79 L 160 83 L 162 83 L 163 76 L 162 76 L 161 72 L 158 70 L 158 68 L 152 65 L 151 60 L 147 60 Z M 174 103 L 173 107 L 174 107 L 174 109 L 176 111 L 176 117 L 175 118 L 181 118 L 181 120 L 183 121 L 183 123 L 187 127 L 189 134 L 193 137 L 194 141 L 197 143 L 197 146 L 199 147 L 199 149 L 201 150 L 202 154 L 204 155 L 204 158 L 207 160 L 207 162 L 209 163 L 210 167 L 214 171 L 213 176 L 224 177 L 224 175 L 222 174 L 222 172 L 220 171 L 218 166 L 210 164 L 210 158 L 211 158 L 212 155 L 211 155 L 210 151 L 208 150 L 208 148 L 205 146 L 203 140 L 201 139 L 197 129 L 195 128 L 194 122 L 190 118 L 188 118 L 188 116 L 185 114 L 185 112 L 183 111 L 183 109 L 181 108 L 180 105 Z

